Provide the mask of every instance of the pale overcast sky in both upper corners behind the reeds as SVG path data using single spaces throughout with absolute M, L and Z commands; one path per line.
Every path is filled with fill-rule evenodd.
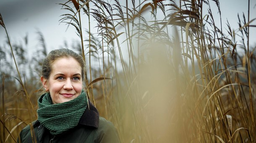
M 38 29 L 44 35 L 48 52 L 60 48 L 61 45 L 64 45 L 64 40 L 68 42 L 68 45 L 71 45 L 74 40 L 79 41 L 73 27 L 65 32 L 67 26 L 59 23 L 60 15 L 66 13 L 66 10 L 60 10 L 61 5 L 56 3 L 63 3 L 63 0 L 0 0 L 0 13 L 11 40 L 17 43 L 28 34 L 28 48 L 33 51 L 31 49 L 39 44 L 36 34 Z M 250 19 L 256 18 L 255 5 L 256 0 L 251 0 Z M 213 9 L 217 8 L 214 3 L 211 3 L 211 6 Z M 227 19 L 232 29 L 238 29 L 238 13 L 242 18 L 244 12 L 247 19 L 248 0 L 220 0 L 220 8 L 224 27 L 226 27 Z M 218 15 L 217 9 L 213 13 Z M 214 20 L 218 23 L 219 18 Z M 253 25 L 256 25 L 256 21 L 253 22 Z M 83 29 L 85 30 L 85 28 Z M 252 45 L 256 45 L 255 31 L 256 28 L 250 30 Z M 4 40 L 6 40 L 6 34 L 3 28 L 0 28 L 0 45 Z

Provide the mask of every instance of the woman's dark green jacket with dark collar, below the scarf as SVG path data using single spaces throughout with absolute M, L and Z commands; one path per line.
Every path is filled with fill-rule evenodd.
M 33 122 L 34 138 L 31 137 L 30 125 L 27 125 L 21 130 L 18 143 L 19 141 L 21 143 L 120 143 L 114 125 L 105 118 L 99 117 L 97 109 L 90 102 L 89 107 L 90 109 L 86 108 L 75 128 L 53 136 L 37 120 Z

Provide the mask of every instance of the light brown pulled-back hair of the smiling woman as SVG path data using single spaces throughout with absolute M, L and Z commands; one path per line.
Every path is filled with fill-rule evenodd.
M 42 63 L 42 76 L 49 79 L 50 73 L 52 71 L 52 63 L 58 58 L 74 58 L 81 66 L 82 69 L 82 79 L 84 79 L 85 63 L 83 57 L 78 55 L 73 50 L 69 49 L 57 49 L 52 50 L 44 59 Z

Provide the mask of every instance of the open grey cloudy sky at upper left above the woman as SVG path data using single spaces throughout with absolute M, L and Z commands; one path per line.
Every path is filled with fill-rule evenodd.
M 0 13 L 11 40 L 17 43 L 28 34 L 28 48 L 31 51 L 39 42 L 37 30 L 43 33 L 48 49 L 59 48 L 57 46 L 63 45 L 64 40 L 70 42 L 78 39 L 73 27 L 65 32 L 67 26 L 58 21 L 60 15 L 66 12 L 61 10 L 61 5 L 56 4 L 62 2 L 63 0 L 1 0 Z M 3 40 L 6 40 L 6 34 L 0 28 L 0 42 Z

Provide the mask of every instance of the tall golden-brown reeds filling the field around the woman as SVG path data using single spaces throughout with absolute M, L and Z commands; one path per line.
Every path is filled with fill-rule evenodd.
M 89 99 L 122 143 L 256 141 L 256 46 L 249 41 L 255 19 L 248 6 L 248 15 L 238 15 L 238 26 L 230 27 L 219 0 L 211 1 L 60 4 L 66 11 L 60 22 L 80 39 L 70 49 L 86 61 Z M 7 36 L 0 45 L 0 143 L 15 143 L 37 119 L 40 66 L 51 49 L 38 31 L 41 46 L 27 57 L 27 39 L 10 42 L 4 21 L 0 16 Z

